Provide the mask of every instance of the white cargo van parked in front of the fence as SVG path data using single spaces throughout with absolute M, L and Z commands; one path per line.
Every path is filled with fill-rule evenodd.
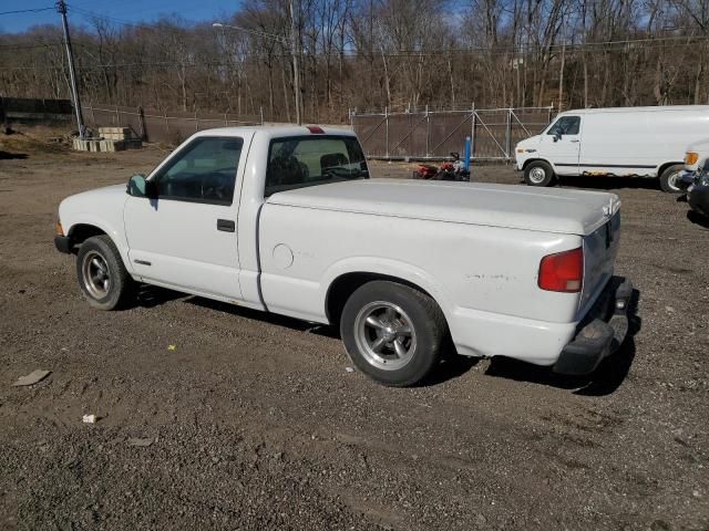
M 709 135 L 709 105 L 585 108 L 561 113 L 517 144 L 516 169 L 532 186 L 561 176 L 659 177 L 679 192 L 687 145 Z

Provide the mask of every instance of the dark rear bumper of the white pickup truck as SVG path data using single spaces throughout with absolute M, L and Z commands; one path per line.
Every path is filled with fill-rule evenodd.
M 588 315 L 578 325 L 576 335 L 562 350 L 554 372 L 568 375 L 593 373 L 602 360 L 618 350 L 628 332 L 628 303 L 633 283 L 614 277 Z

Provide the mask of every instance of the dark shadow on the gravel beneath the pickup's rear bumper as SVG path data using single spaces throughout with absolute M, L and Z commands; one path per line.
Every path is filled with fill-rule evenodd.
M 609 395 L 620 387 L 635 360 L 635 335 L 643 325 L 637 314 L 638 301 L 639 292 L 633 290 L 633 299 L 628 306 L 628 334 L 625 342 L 589 375 L 566 376 L 554 373 L 549 367 L 540 367 L 506 357 L 492 358 L 485 374 L 518 382 L 551 385 L 562 389 L 574 389 L 575 395 Z

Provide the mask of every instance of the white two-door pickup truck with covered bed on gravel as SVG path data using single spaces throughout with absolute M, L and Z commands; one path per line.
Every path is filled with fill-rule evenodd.
M 627 331 L 619 207 L 605 192 L 370 179 L 352 133 L 237 127 L 195 134 L 127 187 L 64 199 L 54 242 L 95 308 L 144 282 L 336 324 L 362 372 L 404 386 L 446 344 L 593 372 Z

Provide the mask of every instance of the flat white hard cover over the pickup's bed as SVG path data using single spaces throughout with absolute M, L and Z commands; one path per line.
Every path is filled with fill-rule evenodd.
M 614 194 L 517 185 L 367 179 L 274 194 L 269 204 L 586 236 L 620 208 Z

